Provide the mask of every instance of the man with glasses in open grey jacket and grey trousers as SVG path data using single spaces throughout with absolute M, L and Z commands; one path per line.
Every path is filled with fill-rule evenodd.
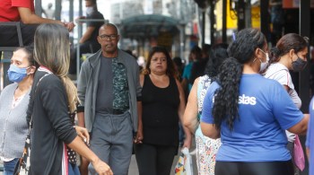
M 136 140 L 143 139 L 137 122 L 142 88 L 137 62 L 118 48 L 119 39 L 114 24 L 100 27 L 101 49 L 83 62 L 78 77 L 78 120 L 79 126 L 92 132 L 92 151 L 109 163 L 114 174 L 127 175 L 135 132 Z M 93 169 L 90 164 L 92 174 Z

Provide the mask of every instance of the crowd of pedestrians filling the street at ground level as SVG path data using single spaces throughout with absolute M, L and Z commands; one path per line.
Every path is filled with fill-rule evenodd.
M 32 175 L 127 175 L 133 153 L 140 175 L 168 175 L 193 136 L 200 175 L 300 174 L 294 145 L 306 133 L 314 161 L 314 100 L 303 114 L 289 73 L 307 65 L 308 39 L 290 33 L 268 48 L 264 34 L 248 28 L 230 44 L 195 46 L 185 67 L 156 46 L 140 72 L 118 48 L 117 26 L 106 23 L 75 86 L 68 77 L 73 27 L 43 22 L 31 47 L 13 52 L 13 83 L 0 95 L 5 175 L 19 163 L 29 128 Z

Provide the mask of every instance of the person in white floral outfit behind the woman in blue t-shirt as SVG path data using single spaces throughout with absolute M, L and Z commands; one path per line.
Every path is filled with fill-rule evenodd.
M 215 157 L 221 145 L 221 139 L 212 139 L 204 136 L 199 126 L 203 110 L 203 101 L 207 89 L 215 80 L 218 68 L 222 61 L 228 57 L 227 44 L 217 44 L 211 49 L 211 62 L 205 66 L 205 75 L 196 78 L 192 90 L 188 95 L 188 104 L 184 112 L 184 126 L 196 137 L 196 165 L 199 175 L 214 175 Z

